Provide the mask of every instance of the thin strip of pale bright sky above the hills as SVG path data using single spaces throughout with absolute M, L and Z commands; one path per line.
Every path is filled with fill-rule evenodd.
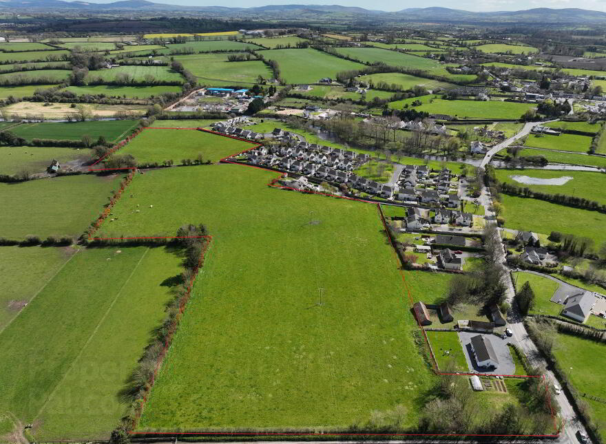
M 94 3 L 109 3 L 116 0 L 93 0 Z M 399 11 L 406 8 L 428 8 L 440 6 L 442 8 L 453 8 L 468 11 L 516 11 L 531 8 L 583 8 L 587 10 L 606 12 L 606 0 L 432 0 L 427 3 L 418 1 L 394 1 L 394 0 L 328 0 L 308 3 L 301 0 L 150 0 L 154 3 L 169 3 L 184 6 L 230 6 L 232 8 L 251 8 L 254 6 L 286 5 L 286 4 L 316 4 L 316 5 L 341 5 L 358 6 L 359 8 Z

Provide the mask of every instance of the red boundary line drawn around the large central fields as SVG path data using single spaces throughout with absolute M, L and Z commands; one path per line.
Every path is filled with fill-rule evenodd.
M 251 151 L 252 149 L 256 149 L 258 147 L 262 147 L 263 145 L 261 143 L 258 142 L 253 142 L 251 140 L 246 140 L 243 138 L 239 138 L 236 136 L 229 136 L 227 134 L 222 134 L 222 133 L 218 133 L 216 131 L 211 131 L 209 129 L 203 129 L 203 128 L 168 128 L 168 127 L 146 127 L 145 129 L 196 129 L 198 131 L 202 131 L 202 132 L 207 132 L 210 134 L 216 134 L 218 136 L 222 136 L 222 137 L 227 137 L 227 138 L 232 138 L 235 140 L 241 140 L 243 142 L 248 142 L 251 145 L 253 145 L 252 147 L 250 147 L 249 149 L 244 149 L 243 151 L 240 151 L 237 154 L 232 154 L 231 156 L 227 156 L 225 158 L 222 158 L 220 160 L 220 162 L 223 163 L 230 163 L 230 164 L 235 164 L 235 165 L 244 165 L 247 167 L 252 167 L 252 168 L 256 168 L 256 169 L 262 169 L 264 171 L 272 171 L 272 172 L 276 172 L 273 169 L 268 169 L 268 168 L 264 168 L 264 167 L 259 167 L 257 165 L 249 165 L 249 164 L 245 164 L 242 162 L 235 162 L 233 160 L 229 160 L 229 158 L 232 158 L 233 156 L 239 156 L 241 154 L 246 153 L 247 151 Z M 109 156 L 109 154 L 112 154 L 114 151 L 117 151 L 118 149 L 124 147 L 130 140 L 132 140 L 132 138 L 136 137 L 138 134 L 140 134 L 140 132 L 143 131 L 143 129 L 137 131 L 135 134 L 132 134 L 132 136 L 129 136 L 129 138 L 123 140 L 122 142 L 118 143 L 118 145 L 115 145 L 107 154 L 105 154 L 105 156 L 103 156 L 102 158 L 99 158 L 96 162 L 94 162 L 94 165 L 97 165 L 98 162 L 101 162 L 105 157 Z M 129 169 L 129 170 L 136 170 L 136 168 L 134 167 L 125 167 L 125 168 L 116 168 L 116 169 L 112 169 L 112 168 L 107 168 L 107 169 L 89 169 L 89 171 L 112 171 L 112 170 L 124 170 L 124 169 Z M 134 173 L 134 171 L 133 171 Z M 318 195 L 324 195 L 324 196 L 328 196 L 328 197 L 333 197 L 333 198 L 340 198 L 340 199 L 346 199 L 346 200 L 354 200 L 357 202 L 363 202 L 363 203 L 373 203 L 377 205 L 377 211 L 379 213 L 379 218 L 381 219 L 381 222 L 384 226 L 384 229 L 386 231 L 388 240 L 392 246 L 392 252 L 395 256 L 395 260 L 397 262 L 397 266 L 401 275 L 401 279 L 402 279 L 402 284 L 404 285 L 404 290 L 406 291 L 406 297 L 408 299 L 408 309 L 412 308 L 412 305 L 414 304 L 414 298 L 412 297 L 412 293 L 410 291 L 410 286 L 408 286 L 408 282 L 406 281 L 406 276 L 404 273 L 404 270 L 401 268 L 401 264 L 400 264 L 400 260 L 399 257 L 396 253 L 395 250 L 395 243 L 393 238 L 390 235 L 390 231 L 388 229 L 387 226 L 387 222 L 385 220 L 384 217 L 384 213 L 383 210 L 381 208 L 381 204 L 377 203 L 377 202 L 372 202 L 369 200 L 364 200 L 364 199 L 359 199 L 359 198 L 350 198 L 347 196 L 342 196 L 342 195 L 335 195 L 332 193 L 320 193 L 318 191 L 306 191 L 306 190 L 302 190 L 302 189 L 297 189 L 297 188 L 293 188 L 293 187 L 284 187 L 280 184 L 276 184 L 276 182 L 278 182 L 278 180 L 280 180 L 281 178 L 284 178 L 286 176 L 286 173 L 279 173 L 279 176 L 274 178 L 273 180 L 271 180 L 267 185 L 269 187 L 273 187 L 273 188 L 278 188 L 278 189 L 288 189 L 288 190 L 292 190 L 292 191 L 300 191 L 303 193 L 309 193 L 309 194 L 318 194 Z M 128 184 L 132 182 L 132 180 L 130 180 L 129 182 L 127 182 L 127 184 L 125 185 L 125 187 L 128 186 Z M 115 195 L 114 198 L 112 198 L 112 206 L 113 204 L 121 197 L 122 191 L 124 191 L 125 187 L 123 187 L 121 189 L 121 191 L 118 193 L 118 195 Z M 107 207 L 107 208 L 111 208 L 111 207 Z M 145 407 L 145 404 L 147 403 L 147 396 L 149 394 L 149 390 L 151 390 L 151 387 L 154 385 L 154 382 L 156 380 L 157 374 L 158 374 L 158 370 L 160 369 L 160 366 L 162 364 L 162 361 L 167 353 L 167 350 L 169 348 L 169 346 L 171 345 L 171 340 L 172 337 L 174 335 L 174 332 L 176 331 L 176 328 L 178 326 L 178 323 L 183 315 L 183 313 L 185 313 L 185 306 L 187 305 L 187 302 L 189 301 L 189 297 L 191 296 L 191 288 L 193 288 L 196 276 L 198 275 L 198 271 L 200 269 L 200 266 L 202 266 L 204 257 L 205 257 L 205 253 L 207 252 L 207 249 L 209 247 L 209 245 L 211 244 L 211 240 L 212 240 L 212 236 L 182 236 L 182 237 L 177 237 L 177 236 L 158 236 L 158 237 L 92 237 L 93 234 L 101 227 L 101 224 L 103 224 L 103 220 L 99 220 L 99 223 L 96 224 L 94 231 L 91 233 L 89 240 L 152 240 L 152 239 L 177 239 L 177 238 L 201 238 L 204 237 L 208 240 L 208 242 L 205 243 L 204 248 L 202 249 L 202 253 L 200 254 L 200 261 L 198 262 L 198 266 L 196 267 L 195 273 L 192 275 L 190 282 L 189 282 L 189 286 L 187 287 L 187 296 L 184 298 L 185 300 L 182 302 L 182 304 L 180 304 L 180 310 L 178 313 L 178 316 L 176 317 L 176 322 L 174 325 L 174 328 L 171 328 L 171 332 L 169 332 L 169 335 L 167 336 L 167 341 L 165 342 L 165 346 L 163 348 L 163 351 L 160 353 L 160 356 L 158 357 L 158 361 L 156 362 L 156 366 L 154 368 L 154 376 L 151 379 L 151 383 L 148 384 L 147 390 L 145 391 L 145 394 L 143 396 L 143 400 L 140 401 L 140 403 L 138 404 L 138 409 L 137 409 L 137 413 L 136 413 L 136 419 L 135 419 L 135 423 L 133 424 L 133 428 L 136 428 L 136 426 L 138 425 L 138 421 L 140 419 L 140 416 L 143 412 L 143 408 Z M 421 324 L 419 323 L 419 321 L 415 318 L 415 321 L 417 321 L 417 326 L 419 327 L 419 330 L 421 330 L 421 335 L 424 338 L 424 341 L 426 343 L 426 348 L 428 349 L 429 355 L 430 355 L 430 359 L 432 362 L 432 371 L 435 372 L 435 374 L 439 374 L 439 375 L 446 375 L 446 374 L 452 374 L 452 373 L 443 373 L 439 371 L 439 368 L 437 366 L 437 361 L 435 359 L 435 356 L 432 353 L 432 348 L 429 346 L 429 339 L 427 337 L 426 331 L 424 330 L 424 328 L 421 326 Z M 475 373 L 457 373 L 459 376 L 473 376 L 473 375 L 477 375 Z M 535 437 L 535 438 L 556 438 L 560 435 L 561 430 L 558 430 L 557 427 L 557 421 L 556 421 L 556 416 L 554 413 L 554 409 L 552 407 L 551 404 L 551 399 L 548 396 L 549 394 L 549 385 L 547 384 L 547 381 L 545 381 L 545 377 L 544 376 L 534 376 L 534 375 L 514 375 L 514 374 L 501 374 L 501 375 L 490 375 L 490 376 L 502 376 L 502 377 L 516 377 L 516 378 L 542 378 L 543 379 L 543 387 L 545 388 L 545 402 L 549 405 L 549 408 L 552 412 L 552 418 L 554 420 L 554 430 L 556 431 L 555 434 L 440 434 L 440 433 L 337 433 L 337 432 L 325 432 L 325 433 L 317 433 L 317 432 L 282 432 L 282 433 L 273 433 L 273 432 L 170 432 L 170 431 L 163 431 L 163 432 L 130 432 L 129 435 L 132 437 L 137 437 L 137 436 L 146 436 L 146 435 L 155 435 L 155 436 L 181 436 L 181 435 L 198 435 L 198 436 L 494 436 L 494 437 Z

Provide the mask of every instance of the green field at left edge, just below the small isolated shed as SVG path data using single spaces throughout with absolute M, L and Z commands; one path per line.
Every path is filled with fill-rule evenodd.
M 4 207 L 0 212 L 0 235 L 8 239 L 27 235 L 42 239 L 50 235 L 78 237 L 101 214 L 122 177 L 83 174 L 0 183 Z

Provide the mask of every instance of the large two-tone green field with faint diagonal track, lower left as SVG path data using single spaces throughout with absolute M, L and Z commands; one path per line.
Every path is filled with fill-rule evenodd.
M 118 392 L 164 317 L 180 262 L 164 248 L 73 255 L 0 334 L 0 410 L 34 423 L 36 441 L 109 438 L 126 410 Z

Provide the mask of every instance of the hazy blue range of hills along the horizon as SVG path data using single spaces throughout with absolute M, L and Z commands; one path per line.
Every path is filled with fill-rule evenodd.
M 477 23 L 605 23 L 606 12 L 579 8 L 534 8 L 520 11 L 471 12 L 451 8 L 407 8 L 398 12 L 368 10 L 339 5 L 267 5 L 255 8 L 226 6 L 179 6 L 154 3 L 147 0 L 121 0 L 112 3 L 65 0 L 0 0 L 5 10 L 81 10 L 91 12 L 116 11 L 187 11 L 209 14 L 213 17 L 247 19 L 309 19 L 335 17 L 375 19 L 377 21 L 444 21 Z

